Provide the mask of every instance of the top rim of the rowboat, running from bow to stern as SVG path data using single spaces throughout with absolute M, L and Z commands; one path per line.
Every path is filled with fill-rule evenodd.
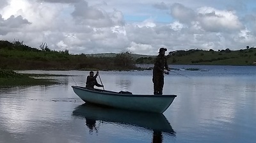
M 112 96 L 129 96 L 129 97 L 154 97 L 154 98 L 170 98 L 170 97 L 177 97 L 177 95 L 174 94 L 163 94 L 163 95 L 154 95 L 154 94 L 124 94 L 124 93 L 117 93 L 115 91 L 106 91 L 102 89 L 96 89 L 97 91 L 93 91 L 90 89 L 86 89 L 85 87 L 81 86 L 71 86 L 72 88 L 81 89 L 83 91 L 88 91 L 89 93 L 99 93 L 99 94 L 106 94 L 106 95 L 112 95 Z M 108 93 L 109 92 L 109 93 Z

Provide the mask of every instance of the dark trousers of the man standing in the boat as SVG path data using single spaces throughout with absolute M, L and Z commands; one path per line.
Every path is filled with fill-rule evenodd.
M 153 74 L 154 94 L 163 94 L 164 75 Z

